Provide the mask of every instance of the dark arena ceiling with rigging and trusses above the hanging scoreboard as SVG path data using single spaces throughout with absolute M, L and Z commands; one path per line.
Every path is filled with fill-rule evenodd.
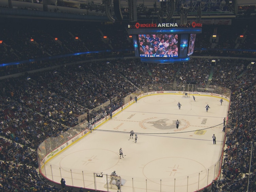
M 58 0 L 67 3 L 79 3 L 89 10 L 88 15 L 107 16 L 110 21 L 141 19 L 162 19 L 188 15 L 197 21 L 201 17 L 235 16 L 237 7 L 254 5 L 255 0 Z M 136 11 L 135 11 L 136 9 Z M 136 14 L 137 13 L 137 14 Z M 134 15 L 133 15 L 134 14 Z M 136 16 L 137 18 L 136 18 Z

